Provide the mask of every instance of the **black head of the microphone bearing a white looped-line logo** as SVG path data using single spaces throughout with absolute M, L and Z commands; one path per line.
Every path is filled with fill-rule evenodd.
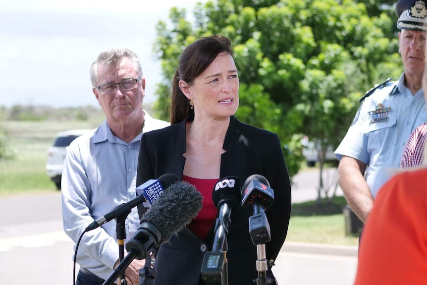
M 222 203 L 227 203 L 231 211 L 240 205 L 242 199 L 242 181 L 237 176 L 226 176 L 215 184 L 212 191 L 212 201 L 217 209 Z

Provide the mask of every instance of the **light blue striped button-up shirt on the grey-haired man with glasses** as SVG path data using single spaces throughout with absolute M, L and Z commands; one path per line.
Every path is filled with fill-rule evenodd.
M 145 112 L 143 132 L 168 126 Z M 143 133 L 142 132 L 142 133 Z M 136 170 L 142 133 L 126 143 L 104 121 L 69 146 L 62 172 L 62 219 L 65 233 L 77 243 L 84 229 L 118 205 L 136 197 Z M 137 209 L 125 221 L 126 239 L 139 227 Z M 77 263 L 107 279 L 119 258 L 116 221 L 86 232 L 77 249 Z M 74 246 L 75 250 L 75 246 Z

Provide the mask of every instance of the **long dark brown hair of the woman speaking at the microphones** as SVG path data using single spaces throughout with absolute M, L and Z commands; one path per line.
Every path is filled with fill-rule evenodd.
M 215 60 L 220 53 L 228 53 L 233 57 L 231 41 L 224 36 L 210 36 L 199 38 L 184 49 L 179 58 L 178 68 L 172 82 L 170 123 L 176 124 L 184 120 L 189 114 L 194 117 L 189 100 L 179 88 L 179 80 L 184 80 L 190 86 L 194 79 Z

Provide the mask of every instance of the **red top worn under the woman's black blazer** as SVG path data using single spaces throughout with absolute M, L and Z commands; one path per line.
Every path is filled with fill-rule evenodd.
M 198 179 L 182 175 L 182 181 L 192 184 L 203 196 L 202 210 L 187 226 L 200 239 L 205 239 L 212 225 L 215 223 L 218 210 L 212 201 L 212 191 L 218 179 Z

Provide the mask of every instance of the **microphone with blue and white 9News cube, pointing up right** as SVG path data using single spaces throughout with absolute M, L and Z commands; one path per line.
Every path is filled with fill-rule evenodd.
M 126 203 L 118 205 L 103 217 L 92 222 L 88 227 L 86 227 L 85 230 L 89 231 L 95 228 L 99 228 L 101 225 L 104 225 L 105 223 L 118 217 L 127 217 L 127 215 L 129 215 L 129 213 L 132 211 L 132 208 L 135 208 L 143 202 L 152 204 L 158 197 L 160 197 L 161 194 L 163 194 L 163 189 L 165 187 L 168 187 L 173 182 L 178 180 L 178 176 L 170 173 L 161 175 L 159 179 L 148 180 L 136 188 L 137 196 L 135 198 Z

